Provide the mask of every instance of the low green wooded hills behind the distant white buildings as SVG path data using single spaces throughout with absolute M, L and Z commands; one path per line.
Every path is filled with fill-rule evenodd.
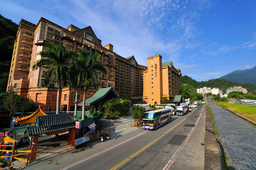
M 234 81 L 228 81 L 220 78 L 198 82 L 196 80 L 193 80 L 191 77 L 185 75 L 185 76 L 182 76 L 181 81 L 182 83 L 188 85 L 190 89 L 198 89 L 202 87 L 211 87 L 211 88 L 216 87 L 222 90 L 223 92 L 226 92 L 226 89 L 228 87 L 241 86 L 247 89 L 248 92 L 256 91 L 256 85 L 252 85 L 250 83 L 237 83 Z

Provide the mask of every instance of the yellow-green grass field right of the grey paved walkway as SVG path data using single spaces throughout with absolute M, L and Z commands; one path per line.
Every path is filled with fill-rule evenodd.
M 256 106 L 250 104 L 232 104 L 225 102 L 220 102 L 218 104 L 220 104 L 220 106 L 223 108 L 227 108 L 228 110 L 237 114 L 241 113 L 241 116 L 248 118 L 249 120 L 252 120 L 252 122 L 256 123 Z

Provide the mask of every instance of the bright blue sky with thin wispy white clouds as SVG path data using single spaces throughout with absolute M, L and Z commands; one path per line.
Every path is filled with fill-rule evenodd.
M 17 24 L 44 17 L 65 28 L 91 25 L 119 55 L 147 66 L 147 57 L 160 54 L 197 81 L 256 66 L 255 0 L 1 0 L 0 6 Z

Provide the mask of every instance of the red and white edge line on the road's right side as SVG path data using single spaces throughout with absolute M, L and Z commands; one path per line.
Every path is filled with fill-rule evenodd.
M 174 153 L 174 155 L 172 156 L 172 158 L 168 161 L 168 163 L 164 166 L 163 170 L 168 170 L 170 169 L 170 167 L 172 166 L 174 160 L 176 159 L 176 157 L 179 155 L 179 153 L 182 151 L 182 149 L 184 148 L 184 146 L 186 145 L 186 143 L 188 142 L 188 139 L 191 137 L 191 134 L 195 131 L 196 126 L 199 123 L 200 118 L 202 117 L 202 113 L 203 113 L 204 107 L 200 113 L 200 117 L 198 117 L 198 119 L 196 120 L 196 124 L 195 127 L 193 127 L 191 129 L 191 131 L 189 132 L 187 138 L 183 141 L 183 143 L 179 146 L 179 148 L 177 149 L 177 151 Z

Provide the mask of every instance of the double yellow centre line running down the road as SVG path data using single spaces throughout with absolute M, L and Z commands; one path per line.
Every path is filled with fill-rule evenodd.
M 197 108 L 196 108 L 197 110 Z M 192 111 L 188 117 L 194 113 L 196 110 Z M 168 134 L 169 132 L 171 132 L 175 127 L 177 127 L 179 124 L 181 124 L 182 122 L 184 122 L 188 117 L 184 118 L 183 120 L 181 120 L 178 124 L 176 124 L 175 126 L 173 126 L 171 129 L 169 129 L 168 131 L 164 132 L 164 134 L 162 134 L 161 136 L 159 136 L 158 138 L 154 139 L 154 141 L 152 141 L 151 143 L 148 143 L 148 145 L 144 146 L 143 148 L 141 148 L 140 150 L 138 150 L 136 153 L 134 153 L 133 155 L 131 155 L 130 157 L 128 157 L 127 159 L 123 160 L 122 162 L 120 162 L 119 164 L 117 164 L 116 166 L 114 166 L 113 168 L 111 168 L 111 170 L 115 170 L 118 167 L 124 165 L 126 162 L 128 162 L 129 160 L 131 160 L 133 157 L 135 157 L 136 155 L 138 155 L 139 153 L 143 152 L 144 150 L 146 150 L 149 146 L 153 145 L 154 143 L 156 143 L 156 141 L 158 141 L 159 139 L 163 138 L 166 134 Z

